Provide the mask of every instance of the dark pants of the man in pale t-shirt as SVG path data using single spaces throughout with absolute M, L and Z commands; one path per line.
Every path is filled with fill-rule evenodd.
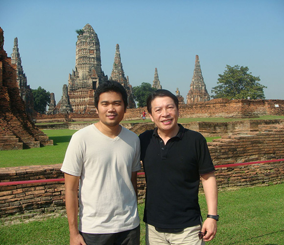
M 90 234 L 80 232 L 87 245 L 139 245 L 140 225 L 132 230 L 110 234 Z

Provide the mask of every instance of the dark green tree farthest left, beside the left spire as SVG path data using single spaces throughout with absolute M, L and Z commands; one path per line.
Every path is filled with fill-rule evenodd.
M 41 114 L 45 114 L 47 111 L 47 105 L 50 103 L 50 93 L 39 86 L 37 89 L 32 89 L 32 95 L 34 109 Z

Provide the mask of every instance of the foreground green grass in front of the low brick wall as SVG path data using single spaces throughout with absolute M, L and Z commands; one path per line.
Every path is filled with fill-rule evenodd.
M 225 190 L 219 193 L 218 231 L 208 245 L 283 245 L 284 184 Z M 199 195 L 203 217 L 204 194 Z M 139 205 L 142 220 L 143 204 Z M 141 245 L 145 226 L 141 221 Z M 18 225 L 0 221 L 1 245 L 68 245 L 67 218 L 49 218 Z

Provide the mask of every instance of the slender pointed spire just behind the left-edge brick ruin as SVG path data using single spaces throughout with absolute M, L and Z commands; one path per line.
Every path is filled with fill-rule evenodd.
M 17 70 L 17 85 L 20 89 L 20 96 L 25 104 L 25 112 L 29 115 L 34 115 L 34 102 L 31 88 L 27 85 L 27 79 L 24 74 L 22 60 L 18 48 L 18 38 L 14 39 L 13 53 L 11 54 L 12 64 L 16 64 Z

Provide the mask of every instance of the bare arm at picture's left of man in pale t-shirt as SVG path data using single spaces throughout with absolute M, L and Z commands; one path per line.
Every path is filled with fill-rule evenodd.
M 79 176 L 64 174 L 65 202 L 70 231 L 70 245 L 86 245 L 78 230 L 78 185 Z

